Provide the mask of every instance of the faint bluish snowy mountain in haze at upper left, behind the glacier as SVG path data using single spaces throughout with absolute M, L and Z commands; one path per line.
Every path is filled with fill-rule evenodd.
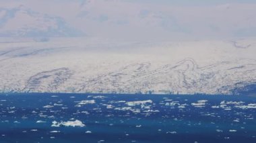
M 81 36 L 61 17 L 19 7 L 0 7 L 0 37 L 65 37 Z

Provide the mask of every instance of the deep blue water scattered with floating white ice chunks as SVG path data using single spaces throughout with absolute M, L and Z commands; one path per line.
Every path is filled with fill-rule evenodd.
M 256 142 L 256 98 L 0 95 L 0 142 Z

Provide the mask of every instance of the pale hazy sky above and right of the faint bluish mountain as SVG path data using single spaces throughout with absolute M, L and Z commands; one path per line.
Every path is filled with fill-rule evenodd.
M 24 5 L 32 11 L 63 17 L 69 26 L 87 36 L 134 39 L 256 36 L 255 0 L 2 0 L 0 5 Z

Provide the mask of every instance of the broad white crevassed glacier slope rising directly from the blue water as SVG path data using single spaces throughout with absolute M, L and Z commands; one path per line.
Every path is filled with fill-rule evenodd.
M 256 83 L 256 40 L 0 43 L 0 91 L 239 94 Z

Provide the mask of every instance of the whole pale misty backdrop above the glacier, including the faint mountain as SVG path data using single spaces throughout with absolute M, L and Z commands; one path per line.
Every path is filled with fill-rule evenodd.
M 0 36 L 93 36 L 125 40 L 245 38 L 255 1 L 0 1 Z

